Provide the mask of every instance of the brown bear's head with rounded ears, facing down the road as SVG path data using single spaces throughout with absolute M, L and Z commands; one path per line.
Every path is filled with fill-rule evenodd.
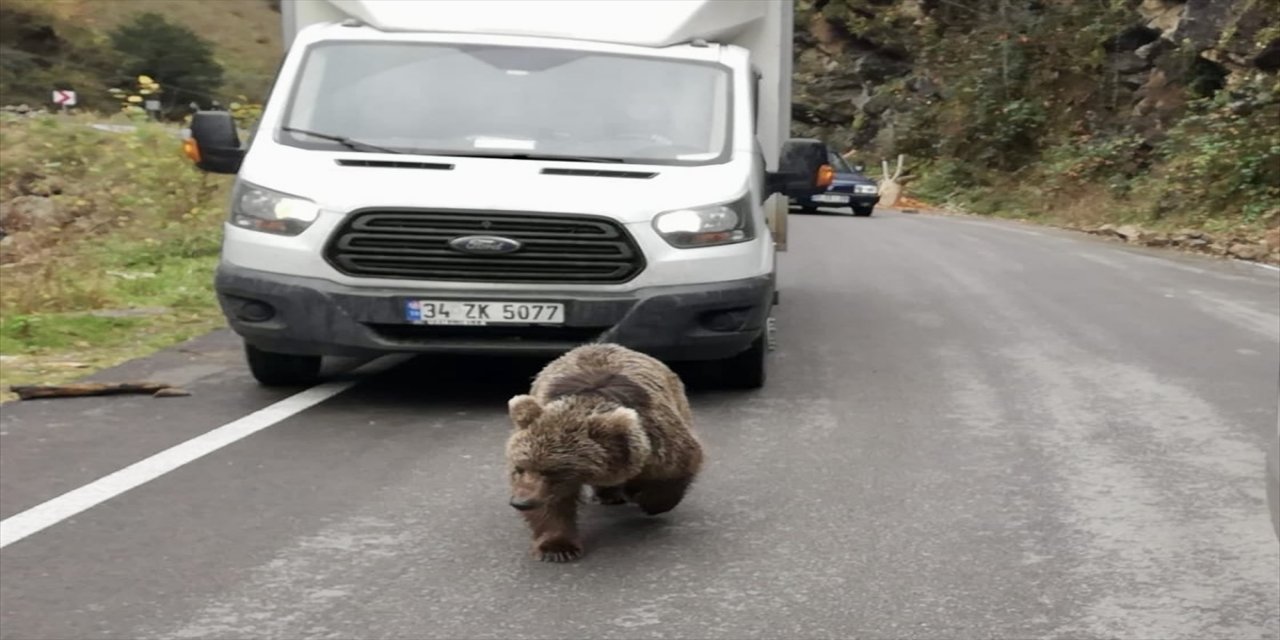
M 507 403 L 515 431 L 507 439 L 511 506 L 534 509 L 577 498 L 582 485 L 618 485 L 649 458 L 649 436 L 635 410 L 598 401 L 532 396 Z

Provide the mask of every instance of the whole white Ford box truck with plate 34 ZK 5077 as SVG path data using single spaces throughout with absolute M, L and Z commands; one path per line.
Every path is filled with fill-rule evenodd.
M 215 288 L 264 384 L 324 356 L 617 342 L 764 381 L 787 196 L 791 1 L 285 0 Z

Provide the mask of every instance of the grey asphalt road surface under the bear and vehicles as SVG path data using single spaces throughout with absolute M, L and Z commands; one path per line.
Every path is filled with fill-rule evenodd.
M 0 636 L 1275 639 L 1280 273 L 1015 224 L 794 216 L 769 385 L 709 465 L 543 564 L 507 506 L 538 362 L 424 361 L 0 550 Z M 340 372 L 337 375 L 342 375 Z M 9 518 L 293 390 L 214 334 L 0 408 Z

